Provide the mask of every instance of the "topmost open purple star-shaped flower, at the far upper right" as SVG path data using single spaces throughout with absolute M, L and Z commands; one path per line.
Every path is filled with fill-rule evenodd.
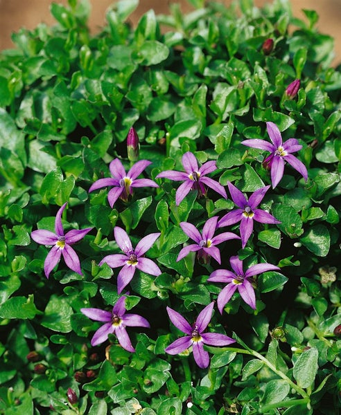
M 265 158 L 263 166 L 271 170 L 272 189 L 278 185 L 283 177 L 285 162 L 288 162 L 291 167 L 297 170 L 297 172 L 304 177 L 304 180 L 307 181 L 308 171 L 306 166 L 291 154 L 302 148 L 298 140 L 296 138 L 289 138 L 286 142 L 283 142 L 281 133 L 274 122 L 267 122 L 266 128 L 268 129 L 272 144 L 257 138 L 254 140 L 244 140 L 242 141 L 242 144 L 247 145 L 248 147 L 254 147 L 255 149 L 270 151 L 271 154 Z

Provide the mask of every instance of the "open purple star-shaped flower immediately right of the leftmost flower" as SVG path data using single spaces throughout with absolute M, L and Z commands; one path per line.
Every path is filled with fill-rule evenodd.
M 123 288 L 130 283 L 132 277 L 134 277 L 136 268 L 143 273 L 150 275 L 157 276 L 161 274 L 160 268 L 151 259 L 143 257 L 143 254 L 148 251 L 159 236 L 159 232 L 147 235 L 137 243 L 137 246 L 134 249 L 132 248 L 132 243 L 127 232 L 122 228 L 119 228 L 119 226 L 115 226 L 114 237 L 117 245 L 123 250 L 124 255 L 107 255 L 107 257 L 104 257 L 102 261 L 100 261 L 99 265 L 106 263 L 110 268 L 123 267 L 117 276 L 118 293 L 121 293 Z

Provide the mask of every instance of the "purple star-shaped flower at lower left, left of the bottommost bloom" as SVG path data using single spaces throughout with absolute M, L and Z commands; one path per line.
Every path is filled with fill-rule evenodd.
M 120 297 L 112 311 L 101 310 L 100 308 L 80 308 L 80 311 L 95 320 L 96 322 L 105 322 L 103 326 L 95 332 L 91 339 L 91 346 L 97 346 L 97 344 L 105 342 L 108 335 L 114 333 L 119 344 L 123 349 L 134 352 L 130 338 L 125 327 L 150 327 L 148 321 L 138 314 L 126 314 L 125 309 L 125 297 Z

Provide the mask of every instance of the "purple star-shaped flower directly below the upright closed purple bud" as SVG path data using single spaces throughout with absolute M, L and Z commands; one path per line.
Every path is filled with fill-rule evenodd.
M 150 164 L 152 164 L 151 161 L 139 160 L 132 166 L 128 173 L 125 173 L 121 160 L 115 158 L 109 165 L 112 178 L 98 179 L 90 186 L 89 192 L 93 192 L 102 187 L 114 186 L 107 194 L 107 200 L 112 208 L 119 198 L 123 201 L 128 201 L 128 196 L 132 194 L 133 187 L 159 187 L 159 185 L 157 185 L 155 181 L 150 180 L 150 178 L 137 178 Z

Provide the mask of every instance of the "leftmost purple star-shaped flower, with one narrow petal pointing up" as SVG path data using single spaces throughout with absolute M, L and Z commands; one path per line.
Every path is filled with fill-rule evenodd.
M 46 278 L 49 278 L 51 271 L 59 263 L 61 256 L 63 256 L 65 264 L 67 264 L 71 270 L 75 271 L 75 273 L 78 273 L 79 275 L 82 275 L 78 255 L 73 248 L 71 248 L 71 245 L 85 237 L 87 232 L 90 232 L 92 228 L 85 228 L 82 230 L 72 229 L 64 234 L 62 212 L 66 206 L 67 202 L 62 205 L 55 215 L 55 233 L 50 230 L 38 229 L 33 230 L 30 234 L 33 241 L 41 243 L 42 245 L 52 245 L 52 249 L 44 261 L 44 272 Z

